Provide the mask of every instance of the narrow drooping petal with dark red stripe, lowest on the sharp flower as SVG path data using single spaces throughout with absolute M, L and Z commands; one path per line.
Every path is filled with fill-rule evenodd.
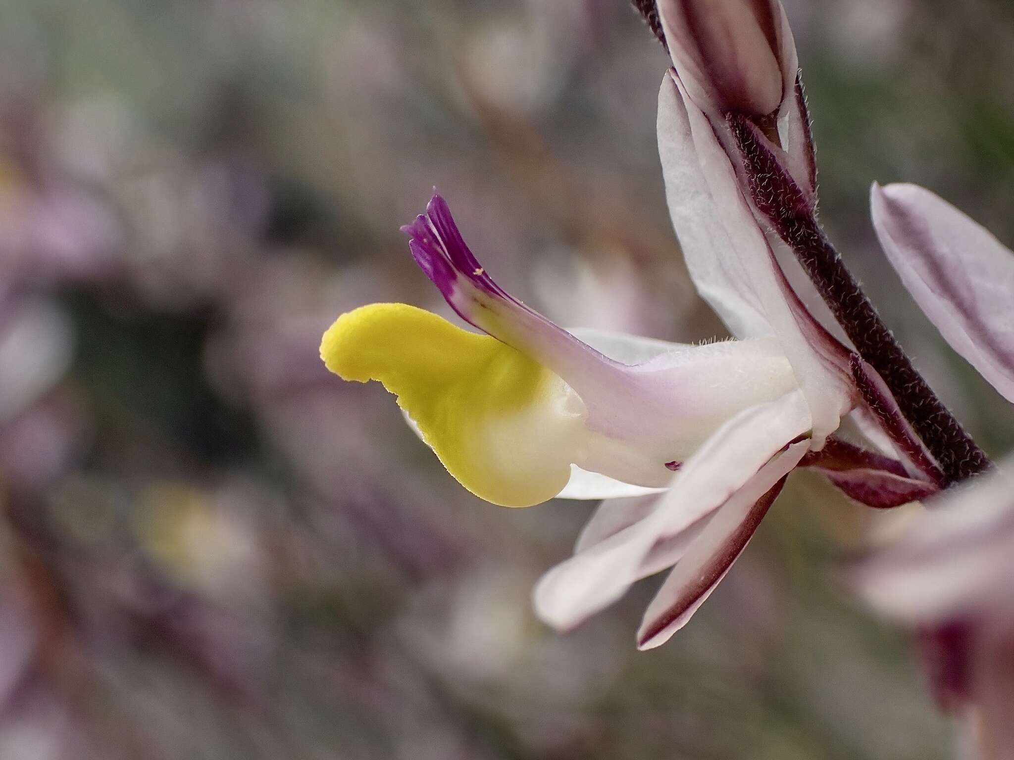
M 637 634 L 638 649 L 650 650 L 665 643 L 690 622 L 746 548 L 782 490 L 785 476 L 807 448 L 805 441 L 790 446 L 762 467 L 715 513 L 648 606 Z

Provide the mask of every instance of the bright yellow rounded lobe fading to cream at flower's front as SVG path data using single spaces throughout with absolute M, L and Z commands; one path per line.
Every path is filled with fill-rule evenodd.
M 567 442 L 583 427 L 573 392 L 521 352 L 414 306 L 343 314 L 320 358 L 345 380 L 379 380 L 465 488 L 504 507 L 554 498 L 570 477 Z

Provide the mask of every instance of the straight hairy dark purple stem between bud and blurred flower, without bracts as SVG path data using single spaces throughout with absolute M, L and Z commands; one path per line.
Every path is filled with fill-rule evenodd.
M 846 268 L 799 189 L 745 117 L 729 127 L 743 162 L 751 200 L 796 257 L 856 351 L 884 381 L 906 420 L 940 464 L 946 484 L 990 468 L 990 460 L 913 366 Z

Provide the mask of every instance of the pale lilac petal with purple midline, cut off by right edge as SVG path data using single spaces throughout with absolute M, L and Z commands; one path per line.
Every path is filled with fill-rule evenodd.
M 1014 252 L 916 184 L 873 185 L 877 236 L 930 321 L 1014 401 Z

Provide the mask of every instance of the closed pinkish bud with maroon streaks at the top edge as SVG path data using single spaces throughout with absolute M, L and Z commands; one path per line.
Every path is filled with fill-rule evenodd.
M 658 0 L 665 40 L 686 92 L 706 113 L 765 117 L 796 75 L 778 0 Z

